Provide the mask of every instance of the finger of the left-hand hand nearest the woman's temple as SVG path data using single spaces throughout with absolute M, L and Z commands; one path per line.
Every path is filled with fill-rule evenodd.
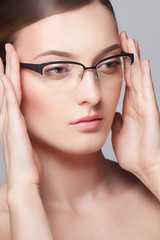
M 15 92 L 16 92 L 16 96 L 17 96 L 17 100 L 18 100 L 18 104 L 20 106 L 21 103 L 21 96 L 22 96 L 22 91 L 21 91 L 21 84 L 20 84 L 20 64 L 19 64 L 19 58 L 18 55 L 13 47 L 13 45 L 11 44 L 7 44 L 7 48 L 9 51 L 9 55 L 10 55 L 10 75 L 9 78 L 11 79 Z

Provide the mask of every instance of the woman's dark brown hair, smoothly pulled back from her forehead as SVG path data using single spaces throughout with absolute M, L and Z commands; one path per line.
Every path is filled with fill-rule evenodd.
M 1 0 L 0 57 L 5 56 L 5 43 L 14 43 L 16 33 L 25 26 L 54 14 L 73 10 L 98 1 L 113 14 L 109 0 Z

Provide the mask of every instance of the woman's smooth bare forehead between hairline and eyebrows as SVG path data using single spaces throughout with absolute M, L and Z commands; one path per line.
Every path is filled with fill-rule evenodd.
M 24 28 L 18 35 L 16 49 L 23 61 L 48 50 L 69 51 L 82 58 L 116 43 L 119 37 L 112 13 L 102 4 L 92 3 Z

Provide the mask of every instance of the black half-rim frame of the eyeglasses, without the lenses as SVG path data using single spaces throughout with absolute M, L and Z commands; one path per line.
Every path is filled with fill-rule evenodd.
M 58 63 L 68 63 L 68 64 L 77 64 L 77 65 L 80 65 L 83 67 L 83 74 L 84 74 L 84 71 L 87 70 L 87 69 L 95 69 L 96 70 L 96 67 L 98 64 L 100 64 L 101 62 L 103 61 L 106 61 L 106 60 L 109 60 L 109 59 L 112 59 L 112 58 L 116 58 L 116 57 L 128 57 L 130 58 L 130 64 L 133 64 L 134 62 L 134 54 L 133 53 L 126 53 L 126 52 L 121 52 L 121 54 L 118 54 L 118 55 L 113 55 L 113 56 L 110 56 L 108 58 L 105 58 L 105 59 L 102 59 L 100 60 L 99 62 L 97 62 L 94 66 L 92 67 L 86 67 L 84 66 L 82 63 L 79 63 L 79 62 L 73 62 L 73 61 L 53 61 L 53 62 L 46 62 L 46 63 L 41 63 L 41 64 L 32 64 L 32 63 L 20 63 L 20 67 L 21 68 L 25 68 L 25 69 L 29 69 L 29 70 L 32 70 L 34 72 L 37 72 L 41 75 L 43 75 L 43 68 L 47 65 L 50 65 L 50 64 L 58 64 Z M 81 78 L 83 77 L 83 74 L 81 76 Z

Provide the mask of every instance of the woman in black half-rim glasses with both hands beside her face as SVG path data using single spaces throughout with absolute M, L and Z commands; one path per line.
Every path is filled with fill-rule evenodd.
M 119 37 L 107 0 L 13 6 L 11 28 L 1 8 L 1 238 L 158 240 L 159 111 L 138 43 Z M 119 164 L 101 152 L 111 128 Z

